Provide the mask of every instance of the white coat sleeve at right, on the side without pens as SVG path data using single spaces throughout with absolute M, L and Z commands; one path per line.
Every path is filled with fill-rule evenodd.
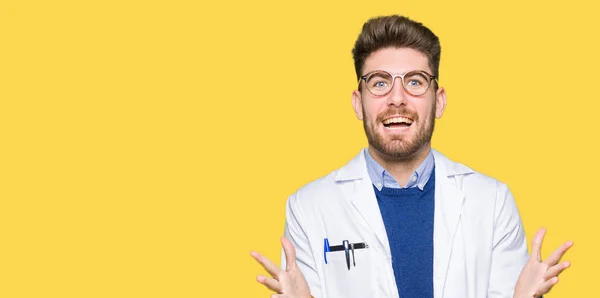
M 517 204 L 508 187 L 499 183 L 494 212 L 492 266 L 487 297 L 512 298 L 528 259 L 527 239 Z

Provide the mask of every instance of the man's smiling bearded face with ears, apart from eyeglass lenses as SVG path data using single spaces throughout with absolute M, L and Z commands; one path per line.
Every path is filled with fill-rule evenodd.
M 374 70 L 404 74 L 423 70 L 432 73 L 427 57 L 409 48 L 384 48 L 365 60 L 363 75 Z M 408 82 L 407 82 L 408 83 Z M 435 118 L 440 118 L 446 105 L 443 88 L 435 91 L 435 82 L 420 96 L 409 94 L 397 77 L 393 89 L 375 96 L 361 80 L 361 91 L 352 94 L 358 119 L 363 121 L 369 147 L 393 159 L 406 159 L 431 147 Z

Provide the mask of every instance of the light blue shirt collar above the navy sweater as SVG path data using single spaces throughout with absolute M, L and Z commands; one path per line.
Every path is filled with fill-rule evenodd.
M 367 172 L 369 173 L 371 182 L 373 182 L 373 185 L 378 190 L 381 190 L 383 187 L 402 188 L 396 179 L 373 159 L 369 150 L 365 150 L 365 160 L 367 161 Z M 418 187 L 420 190 L 423 190 L 433 172 L 434 165 L 433 151 L 429 150 L 429 154 L 427 154 L 425 160 L 419 165 L 410 179 L 408 179 L 408 184 L 404 188 Z

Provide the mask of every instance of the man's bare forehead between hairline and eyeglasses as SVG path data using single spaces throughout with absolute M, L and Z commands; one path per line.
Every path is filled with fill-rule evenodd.
M 427 56 L 409 48 L 383 48 L 371 53 L 365 59 L 363 74 L 373 70 L 385 70 L 394 74 L 411 70 L 424 70 L 431 73 Z

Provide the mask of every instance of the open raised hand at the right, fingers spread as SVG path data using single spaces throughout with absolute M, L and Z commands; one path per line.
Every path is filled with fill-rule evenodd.
M 558 264 L 565 252 L 573 246 L 572 241 L 567 241 L 557 248 L 545 261 L 542 261 L 542 242 L 544 241 L 546 229 L 541 228 L 533 236 L 531 242 L 531 256 L 521 270 L 517 285 L 515 286 L 515 298 L 539 298 L 548 293 L 558 283 L 558 275 L 571 264 L 568 261 Z

